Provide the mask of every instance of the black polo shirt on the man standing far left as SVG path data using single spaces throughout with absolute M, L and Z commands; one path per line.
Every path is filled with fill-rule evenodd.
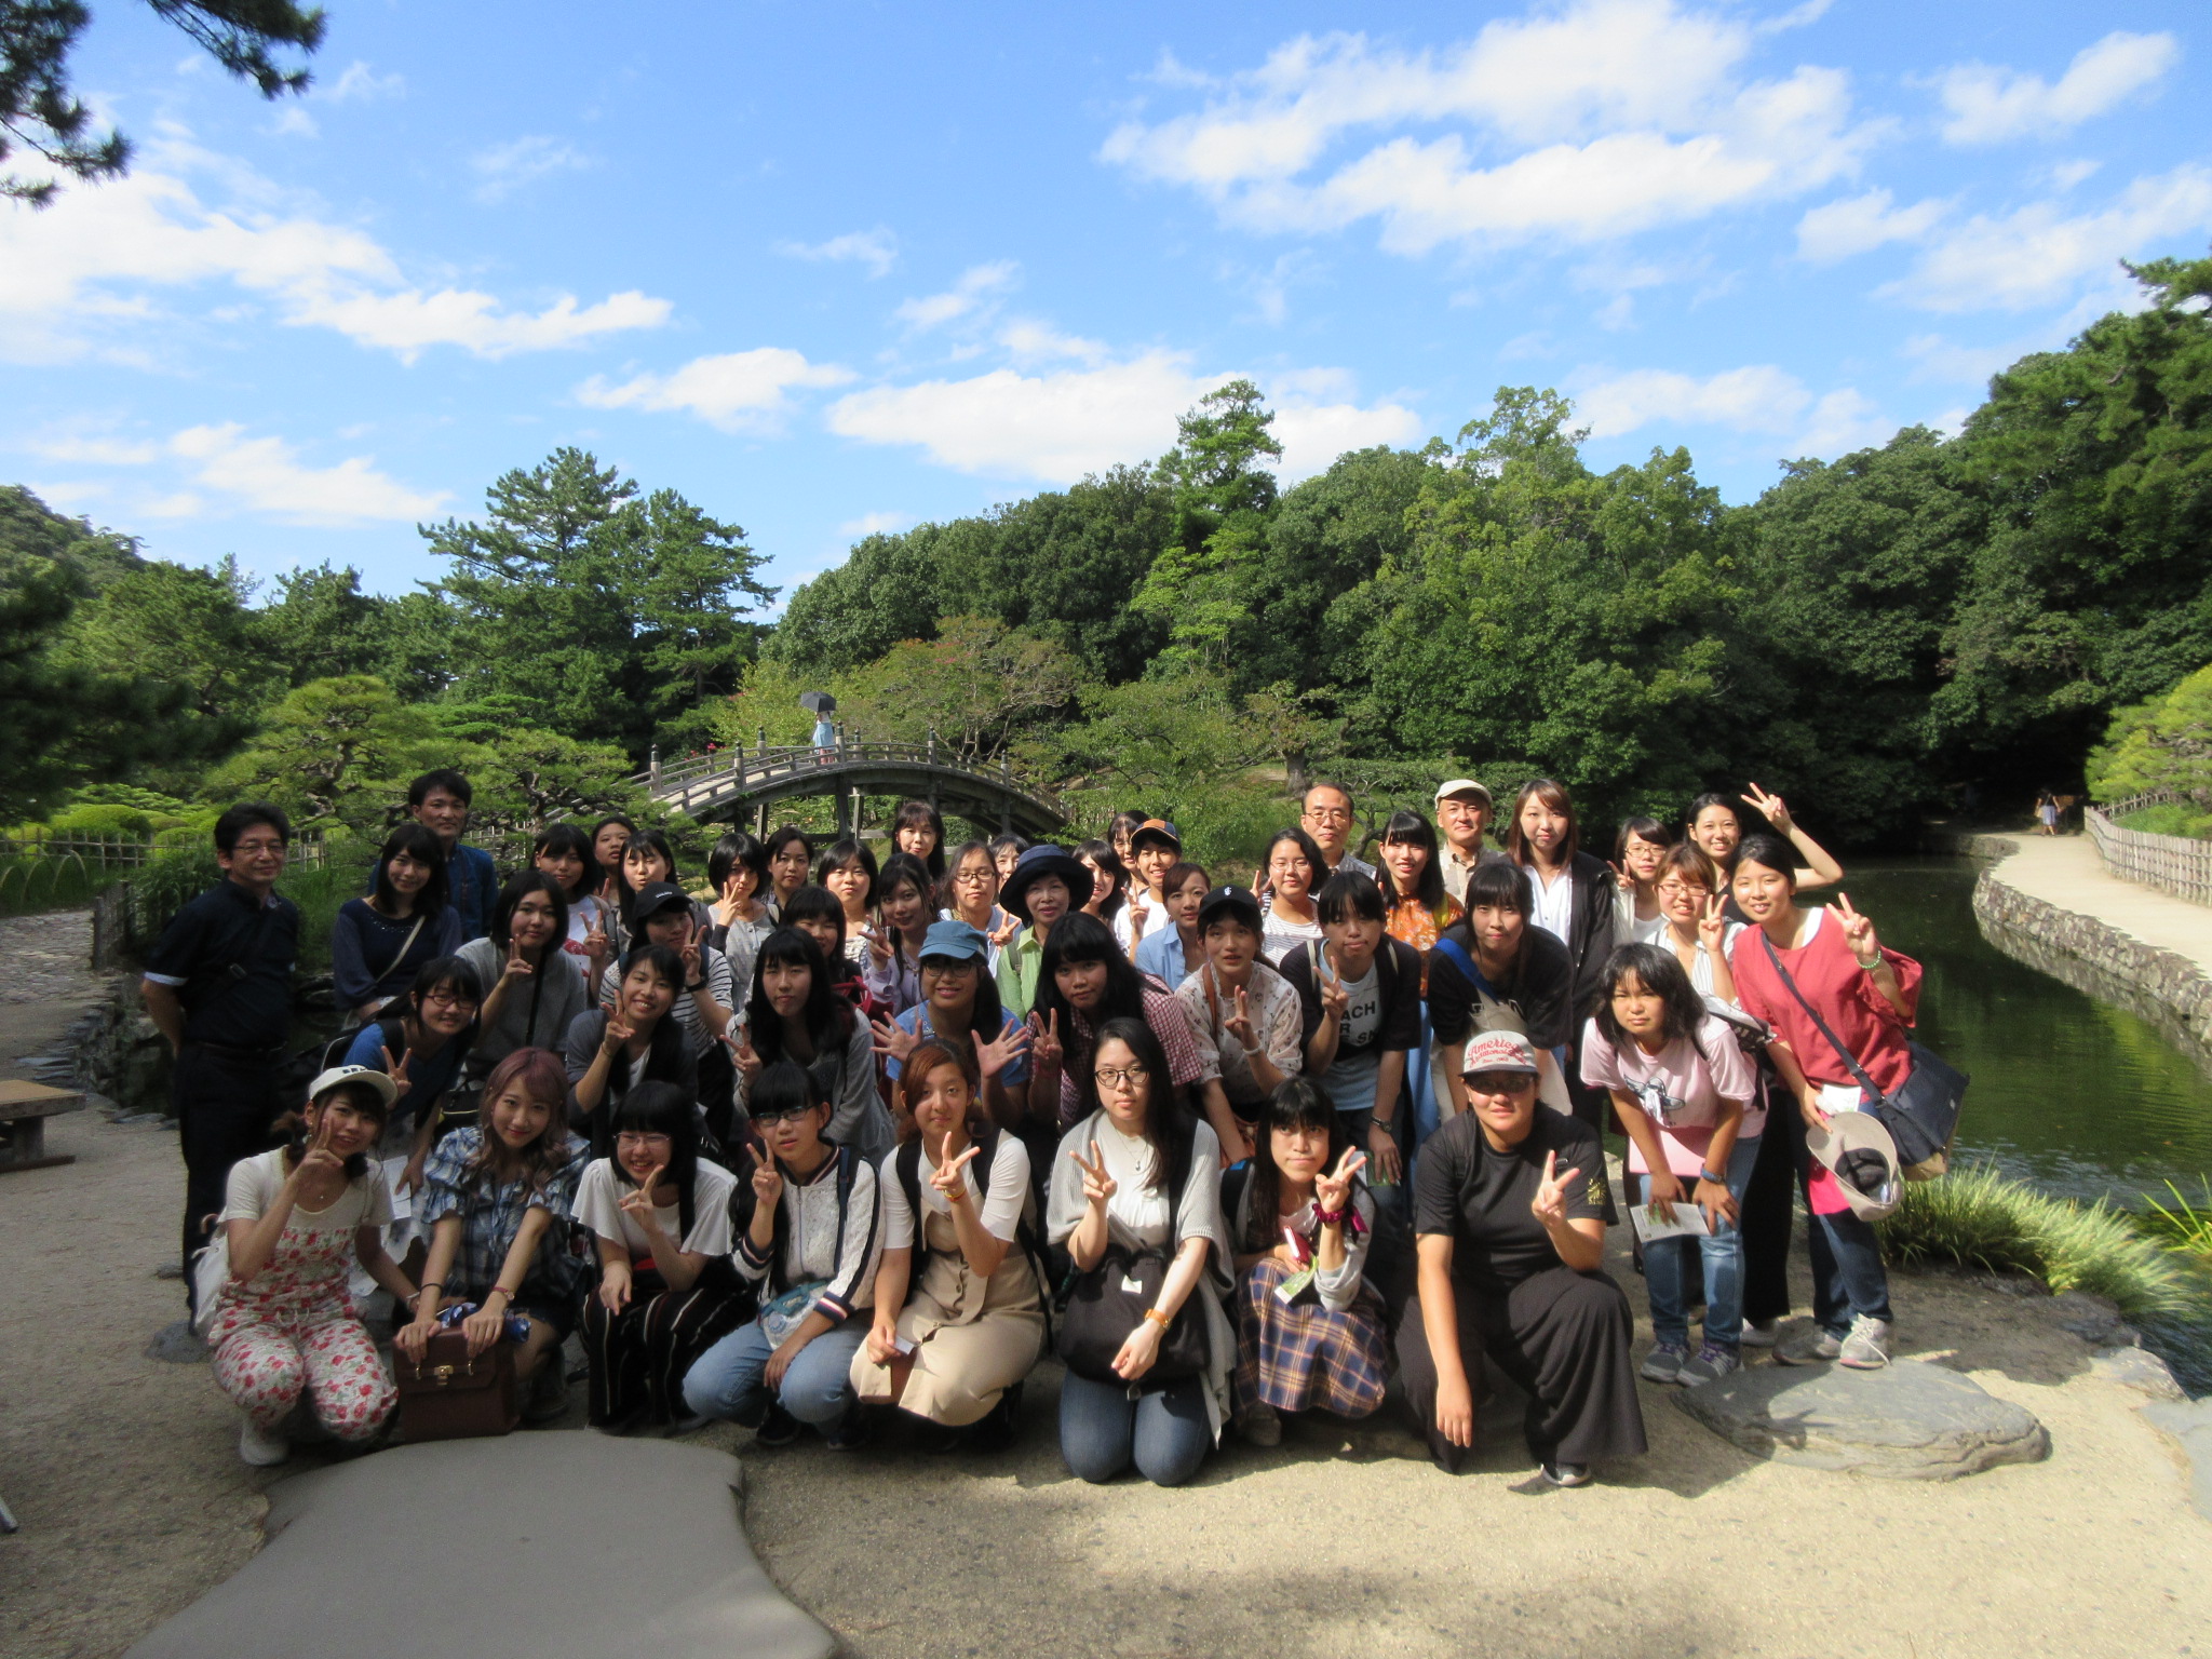
M 179 909 L 146 958 L 146 978 L 184 1002 L 184 1040 L 226 1048 L 281 1048 L 292 1031 L 299 907 L 270 894 L 257 905 L 234 880 Z

